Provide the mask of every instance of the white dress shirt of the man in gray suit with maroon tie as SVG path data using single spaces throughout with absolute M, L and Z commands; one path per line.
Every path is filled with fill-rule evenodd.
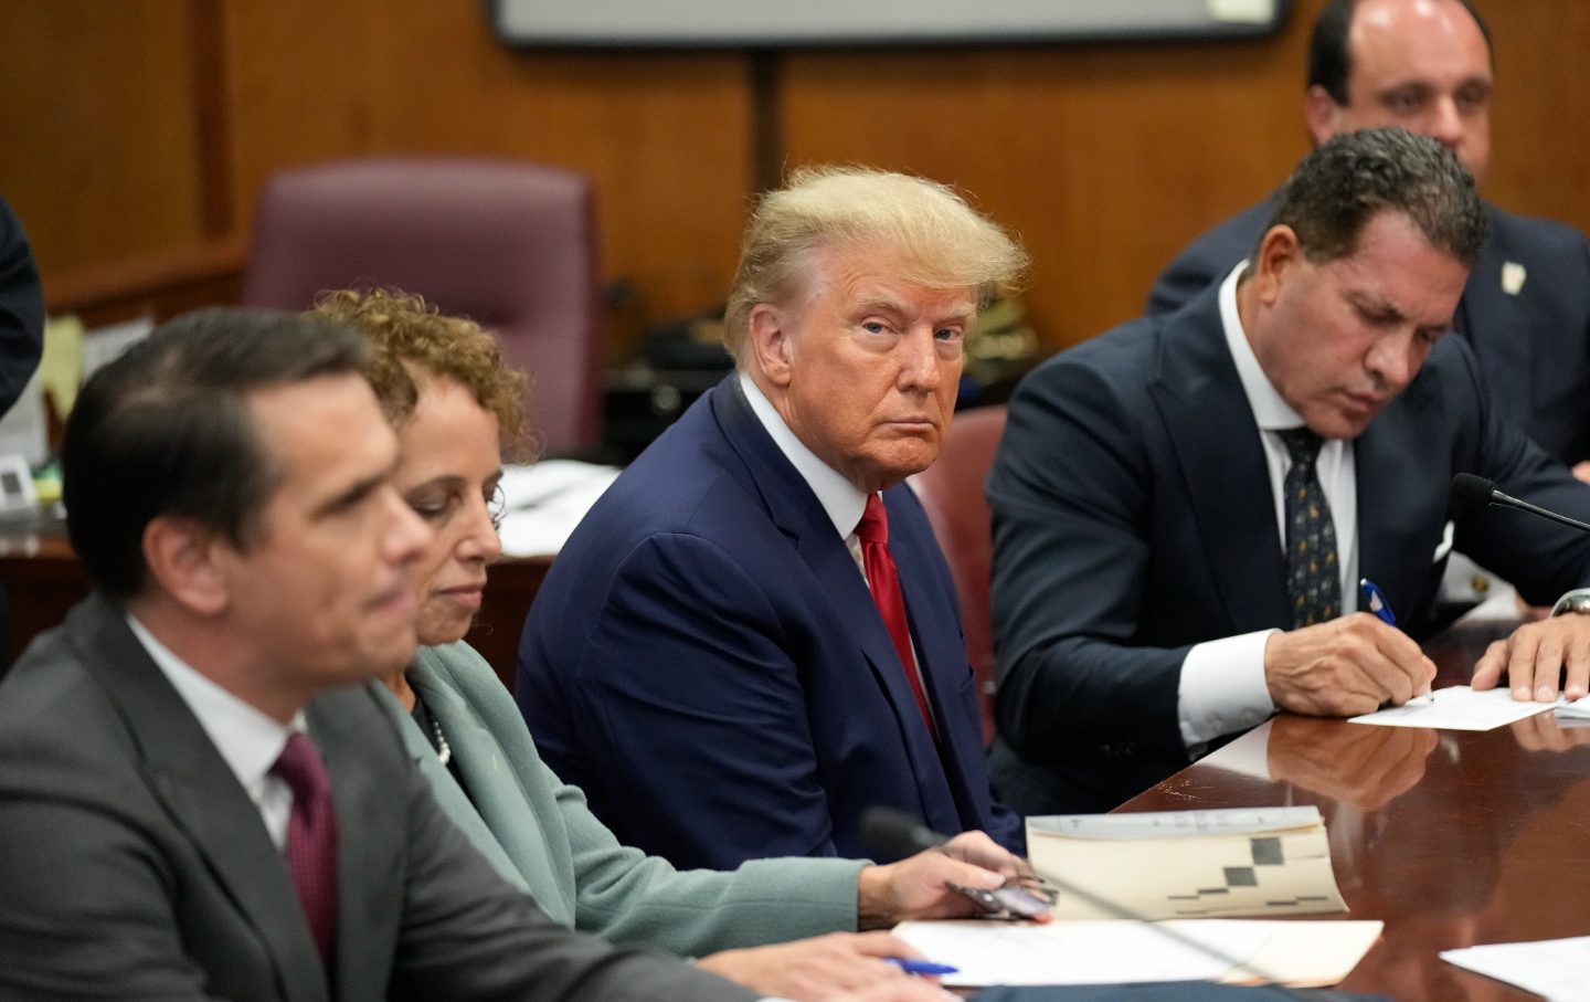
M 127 625 L 132 627 L 132 633 L 143 644 L 143 649 L 149 652 L 154 665 L 176 689 L 176 695 L 199 717 L 199 725 L 210 735 L 221 759 L 232 767 L 237 781 L 243 784 L 243 790 L 259 808 L 266 830 L 270 832 L 270 841 L 277 843 L 278 849 L 285 848 L 288 816 L 293 813 L 293 790 L 280 776 L 270 773 L 270 767 L 277 763 L 281 749 L 286 748 L 288 735 L 294 730 L 304 730 L 304 714 L 299 713 L 291 727 L 283 727 L 199 674 L 157 641 L 132 614 L 127 614 Z

